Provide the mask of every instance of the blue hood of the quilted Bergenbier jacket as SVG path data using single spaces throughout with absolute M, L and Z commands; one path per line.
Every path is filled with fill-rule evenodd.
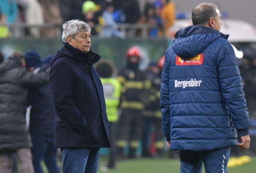
M 215 29 L 206 26 L 187 26 L 175 34 L 172 49 L 182 59 L 188 59 L 200 54 L 208 45 L 219 37 L 228 39 Z

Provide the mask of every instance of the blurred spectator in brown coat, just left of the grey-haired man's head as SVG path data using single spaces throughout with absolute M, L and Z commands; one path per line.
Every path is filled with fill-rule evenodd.
M 38 2 L 43 9 L 44 22 L 51 23 L 54 26 L 54 28 L 42 27 L 40 29 L 41 35 L 44 37 L 56 37 L 56 26 L 59 28 L 63 22 L 58 0 L 38 0 Z

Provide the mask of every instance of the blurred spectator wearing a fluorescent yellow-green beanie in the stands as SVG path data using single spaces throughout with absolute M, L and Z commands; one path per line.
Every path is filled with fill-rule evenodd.
M 84 21 L 91 26 L 91 35 L 97 35 L 97 25 L 99 24 L 99 19 L 94 15 L 96 12 L 96 4 L 92 1 L 85 1 L 82 5 L 82 13 L 85 18 Z

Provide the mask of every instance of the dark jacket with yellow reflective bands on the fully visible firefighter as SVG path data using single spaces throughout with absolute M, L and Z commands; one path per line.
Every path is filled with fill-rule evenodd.
M 124 68 L 118 73 L 117 79 L 122 84 L 120 108 L 143 110 L 148 100 L 145 91 L 150 87 L 145 72 Z

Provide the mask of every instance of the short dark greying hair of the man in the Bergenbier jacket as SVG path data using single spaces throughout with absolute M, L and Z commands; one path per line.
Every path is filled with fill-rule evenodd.
M 192 11 L 193 25 L 202 25 L 207 23 L 211 17 L 217 16 L 218 6 L 213 3 L 201 3 Z

